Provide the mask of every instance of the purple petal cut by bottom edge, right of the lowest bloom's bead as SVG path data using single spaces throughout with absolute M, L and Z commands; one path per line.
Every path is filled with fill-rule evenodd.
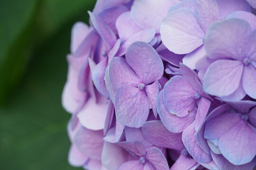
M 155 170 L 169 170 L 165 156 L 159 149 L 151 147 L 146 151 L 146 159 L 154 165 Z

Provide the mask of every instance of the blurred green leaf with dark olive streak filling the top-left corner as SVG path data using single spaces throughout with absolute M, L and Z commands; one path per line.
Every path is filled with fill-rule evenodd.
M 35 51 L 96 0 L 0 1 L 0 104 L 17 87 Z M 88 17 L 86 22 L 88 21 Z M 82 19 L 84 21 L 84 19 Z

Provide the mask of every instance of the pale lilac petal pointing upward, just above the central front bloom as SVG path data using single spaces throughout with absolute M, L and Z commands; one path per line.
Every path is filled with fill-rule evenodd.
M 142 31 L 142 28 L 137 26 L 130 17 L 130 11 L 121 14 L 116 22 L 119 38 L 127 40 L 134 34 Z

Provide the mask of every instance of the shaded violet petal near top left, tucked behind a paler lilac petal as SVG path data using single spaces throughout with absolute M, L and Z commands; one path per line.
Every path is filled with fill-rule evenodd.
M 116 21 L 117 18 L 124 12 L 128 11 L 128 8 L 120 5 L 113 8 L 108 8 L 104 11 L 102 11 L 99 14 L 99 17 L 102 19 L 102 21 L 107 24 L 110 29 L 115 33 L 118 34 L 118 30 L 116 27 Z

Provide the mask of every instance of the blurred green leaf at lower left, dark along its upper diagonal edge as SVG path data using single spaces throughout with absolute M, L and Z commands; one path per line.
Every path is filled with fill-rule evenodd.
M 9 102 L 0 107 L 0 165 L 2 170 L 82 170 L 68 164 L 70 115 L 61 105 L 67 76 L 66 54 L 75 21 L 41 46 Z

